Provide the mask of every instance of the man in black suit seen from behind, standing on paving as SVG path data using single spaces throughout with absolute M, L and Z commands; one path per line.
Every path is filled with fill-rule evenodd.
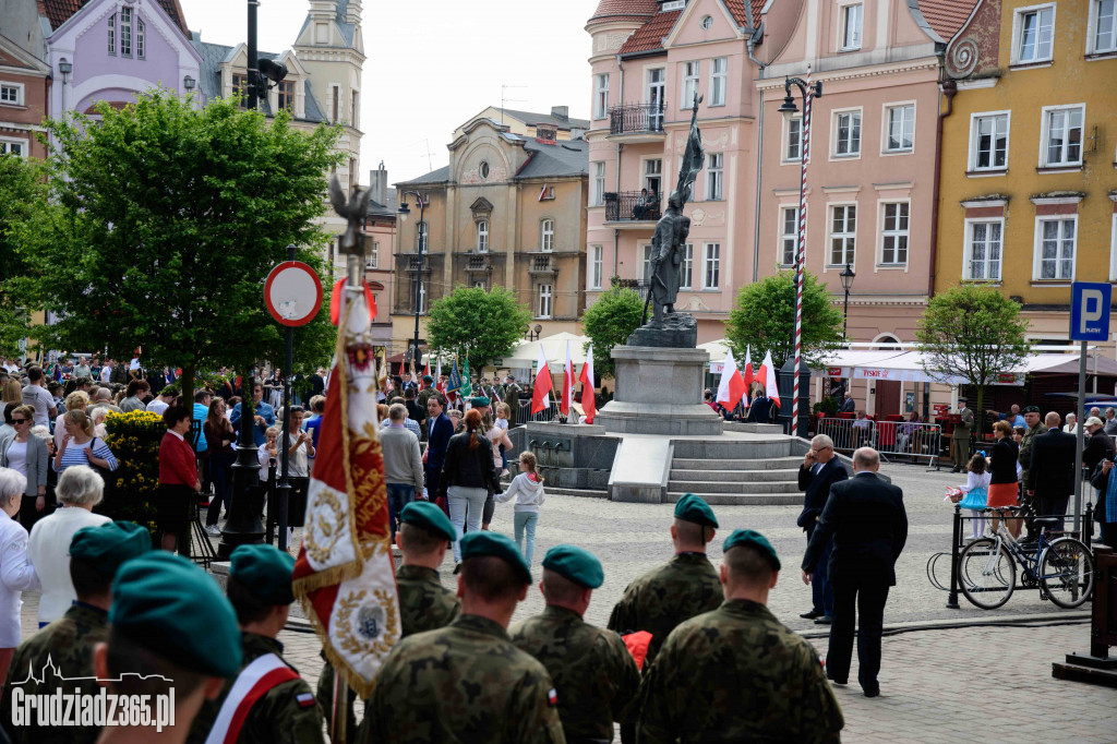
M 877 477 L 880 456 L 871 447 L 853 452 L 853 477 L 830 488 L 819 525 L 803 555 L 803 582 L 811 583 L 814 566 L 833 538 L 830 582 L 834 620 L 830 626 L 827 677 L 836 685 L 849 679 L 853 656 L 855 605 L 860 611 L 857 678 L 866 697 L 880 695 L 880 637 L 888 588 L 896 585 L 896 559 L 907 542 L 904 492 Z

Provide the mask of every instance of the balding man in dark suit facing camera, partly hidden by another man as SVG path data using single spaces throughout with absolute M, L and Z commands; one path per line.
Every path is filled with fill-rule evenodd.
M 799 468 L 799 488 L 803 492 L 803 511 L 799 514 L 795 523 L 806 531 L 806 542 L 810 544 L 814 527 L 819 523 L 822 507 L 827 505 L 830 496 L 830 486 L 849 478 L 846 467 L 834 457 L 834 443 L 830 437 L 819 435 L 811 440 L 811 449 L 803 458 L 803 465 Z M 833 620 L 834 593 L 833 588 L 827 580 L 827 566 L 830 562 L 830 544 L 828 543 L 819 553 L 818 562 L 814 564 L 814 580 L 811 582 L 811 591 L 814 607 L 810 612 L 799 616 L 815 623 L 829 624 Z

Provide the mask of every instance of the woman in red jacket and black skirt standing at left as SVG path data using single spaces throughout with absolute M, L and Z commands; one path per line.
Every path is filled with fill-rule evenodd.
M 198 460 L 187 441 L 190 432 L 190 411 L 184 406 L 172 406 L 163 411 L 166 433 L 159 445 L 159 516 L 157 526 L 163 533 L 163 550 L 180 553 L 187 550 L 187 530 L 190 528 L 190 503 L 201 492 L 198 479 Z

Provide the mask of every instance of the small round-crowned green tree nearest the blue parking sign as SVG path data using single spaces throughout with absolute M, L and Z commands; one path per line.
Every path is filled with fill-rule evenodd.
M 977 388 L 976 411 L 985 410 L 985 385 L 1011 372 L 1031 352 L 1020 305 L 995 287 L 960 285 L 932 297 L 915 337 L 927 374 L 962 378 Z M 978 431 L 982 417 L 977 417 Z

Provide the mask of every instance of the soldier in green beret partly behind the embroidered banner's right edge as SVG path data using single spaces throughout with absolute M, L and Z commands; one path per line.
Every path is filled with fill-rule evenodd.
M 458 598 L 438 578 L 438 567 L 442 565 L 446 551 L 457 538 L 450 519 L 431 502 L 412 502 L 400 512 L 400 531 L 395 540 L 403 553 L 403 562 L 395 570 L 395 585 L 400 595 L 401 639 L 445 628 L 461 614 Z M 333 685 L 334 668 L 327 664 L 318 679 L 318 703 L 325 710 L 333 707 Z M 350 690 L 350 732 L 356 731 L 354 695 Z M 366 702 L 362 726 L 369 725 Z M 360 734 L 359 738 L 365 734 Z

